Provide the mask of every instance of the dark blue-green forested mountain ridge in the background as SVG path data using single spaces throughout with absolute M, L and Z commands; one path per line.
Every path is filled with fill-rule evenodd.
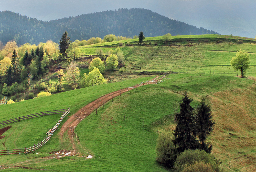
M 142 8 L 119 9 L 68 17 L 51 21 L 29 18 L 11 11 L 0 12 L 0 40 L 16 40 L 18 44 L 38 44 L 51 39 L 59 42 L 67 30 L 72 41 L 103 38 L 107 34 L 133 37 L 140 31 L 148 36 L 218 34 L 204 28 L 169 19 Z

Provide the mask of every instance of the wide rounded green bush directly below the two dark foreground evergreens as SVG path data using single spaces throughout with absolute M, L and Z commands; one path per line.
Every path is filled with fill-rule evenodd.
M 205 164 L 210 164 L 214 171 L 219 171 L 220 162 L 216 161 L 214 155 L 198 149 L 185 150 L 180 155 L 178 155 L 174 163 L 174 169 L 176 171 L 182 171 L 186 167 L 194 165 L 196 162 L 204 162 Z

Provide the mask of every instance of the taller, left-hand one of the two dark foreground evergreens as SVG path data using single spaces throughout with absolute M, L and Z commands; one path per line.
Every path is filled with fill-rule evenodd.
M 194 125 L 193 107 L 190 103 L 193 99 L 188 97 L 188 93 L 184 92 L 182 102 L 179 103 L 180 112 L 176 113 L 177 126 L 174 130 L 175 153 L 181 153 L 185 149 L 197 149 L 198 140 L 196 140 L 196 127 Z

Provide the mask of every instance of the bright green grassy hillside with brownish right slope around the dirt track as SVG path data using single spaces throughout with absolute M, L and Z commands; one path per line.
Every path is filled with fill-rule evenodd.
M 207 35 L 208 36 L 208 35 Z M 0 156 L 0 169 L 20 171 L 46 169 L 48 171 L 166 171 L 155 161 L 156 138 L 160 132 L 172 132 L 174 104 L 179 102 L 184 90 L 193 97 L 193 106 L 202 96 L 212 107 L 216 125 L 208 138 L 213 144 L 212 153 L 222 160 L 227 171 L 255 171 L 256 160 L 256 105 L 255 105 L 255 41 L 223 35 L 174 36 L 166 46 L 160 37 L 146 38 L 143 46 L 130 40 L 132 46 L 122 46 L 125 70 L 106 73 L 113 81 L 136 76 L 136 74 L 159 74 L 169 68 L 177 72 L 200 72 L 201 74 L 178 73 L 159 84 L 138 87 L 116 97 L 114 102 L 99 108 L 79 123 L 75 129 L 79 142 L 78 155 L 52 158 L 54 151 L 71 150 L 68 139 L 59 139 L 57 130 L 53 138 L 33 153 L 27 155 Z M 198 42 L 200 40 L 200 43 Z M 208 42 L 206 41 L 208 40 Z M 217 43 L 223 41 L 222 43 Z M 221 40 L 221 41 L 220 41 Z M 134 41 L 134 42 L 132 42 Z M 157 43 L 157 45 L 155 45 Z M 97 48 L 108 51 L 118 42 L 80 47 L 84 55 L 95 53 Z M 193 44 L 192 46 L 187 46 Z M 148 45 L 148 46 L 147 46 Z M 163 46 L 162 46 L 163 45 Z M 248 78 L 236 77 L 230 65 L 231 57 L 238 50 L 250 52 L 251 69 Z M 216 70 L 216 74 L 208 73 Z M 204 73 L 205 72 L 205 73 Z M 250 77 L 249 77 L 250 76 Z M 98 97 L 140 83 L 148 78 L 112 82 L 95 87 L 67 91 L 48 97 L 32 99 L 0 106 L 0 121 L 29 113 L 70 107 L 72 115 L 81 107 Z M 38 106 L 40 104 L 40 106 Z M 26 108 L 24 108 L 26 107 Z M 125 120 L 123 114 L 126 114 Z M 34 118 L 14 123 L 0 140 L 0 149 L 7 146 L 20 148 L 43 139 L 45 133 L 56 123 L 60 115 Z M 64 119 L 67 120 L 68 117 Z M 62 122 L 63 123 L 63 122 Z M 8 125 L 9 126 L 9 125 Z M 25 143 L 23 142 L 25 141 Z M 4 143 L 4 144 L 3 144 Z M 91 154 L 92 159 L 86 156 Z M 230 166 L 229 166 L 230 164 Z M 10 167 L 10 168 L 9 168 Z M 31 169 L 24 169 L 28 167 Z

